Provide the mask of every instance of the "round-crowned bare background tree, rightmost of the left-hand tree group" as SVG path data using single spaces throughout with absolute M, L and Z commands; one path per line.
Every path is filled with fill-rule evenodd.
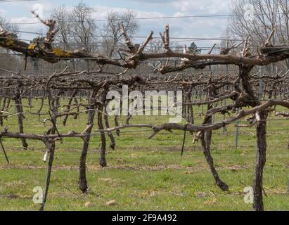
M 131 10 L 127 10 L 124 13 L 108 12 L 108 22 L 103 26 L 103 44 L 105 46 L 105 53 L 107 56 L 112 57 L 117 49 L 117 45 L 122 40 L 122 29 L 127 35 L 132 36 L 139 28 L 139 24 L 136 23 L 136 13 Z

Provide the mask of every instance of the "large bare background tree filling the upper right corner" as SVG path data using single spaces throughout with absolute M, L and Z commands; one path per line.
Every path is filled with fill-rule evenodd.
M 250 37 L 252 51 L 264 44 L 267 37 L 276 30 L 271 39 L 273 45 L 288 44 L 289 40 L 289 3 L 288 0 L 236 0 L 232 6 L 228 32 L 238 37 Z M 287 68 L 289 62 L 287 61 Z

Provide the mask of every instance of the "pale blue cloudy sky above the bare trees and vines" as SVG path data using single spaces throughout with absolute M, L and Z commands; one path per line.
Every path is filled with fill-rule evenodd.
M 79 0 L 50 0 L 50 1 L 15 1 L 5 2 L 0 0 L 0 16 L 7 18 L 12 23 L 33 23 L 37 22 L 32 17 L 30 11 L 33 8 L 43 7 L 44 18 L 49 18 L 53 8 L 57 6 L 76 5 Z M 228 15 L 232 0 L 85 0 L 89 6 L 96 11 L 94 19 L 104 19 L 108 11 L 124 11 L 127 8 L 133 9 L 137 13 L 137 18 L 161 18 L 167 16 L 184 15 Z M 174 18 L 158 20 L 138 20 L 140 29 L 137 36 L 147 36 L 150 30 L 158 35 L 164 30 L 168 23 L 171 37 L 182 38 L 217 38 L 224 37 L 227 17 L 207 17 L 207 18 Z M 97 22 L 101 26 L 105 22 Z M 44 25 L 20 25 L 21 31 L 35 32 L 45 30 Z M 21 34 L 23 39 L 32 39 L 35 34 Z M 175 39 L 176 40 L 176 39 Z M 182 39 L 184 41 L 184 39 Z M 189 44 L 192 40 L 182 42 Z M 212 46 L 215 40 L 195 41 L 199 47 Z

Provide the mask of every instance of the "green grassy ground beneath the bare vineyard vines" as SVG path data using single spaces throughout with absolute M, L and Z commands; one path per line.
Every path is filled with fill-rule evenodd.
M 34 108 L 38 109 L 37 101 Z M 200 108 L 195 112 L 200 113 Z M 27 110 L 27 109 L 26 109 Z M 44 112 L 47 108 L 44 108 Z M 282 109 L 280 109 L 282 110 Z M 45 117 L 27 115 L 25 133 L 43 134 Z M 167 122 L 167 117 L 133 117 L 131 124 Z M 123 118 L 124 120 L 124 118 Z M 220 120 L 220 117 L 216 118 Z M 200 122 L 200 118 L 197 118 Z M 122 122 L 122 120 L 121 120 Z M 5 122 L 9 131 L 18 131 L 16 117 Z M 58 122 L 60 124 L 61 121 Z M 266 210 L 289 210 L 289 120 L 274 120 L 268 125 L 268 153 L 264 169 Z M 82 131 L 86 115 L 70 118 L 60 132 Z M 214 131 L 212 156 L 221 179 L 229 184 L 224 193 L 214 184 L 207 169 L 200 143 L 186 139 L 186 151 L 181 157 L 182 132 L 162 132 L 148 141 L 150 132 L 122 133 L 116 137 L 116 150 L 108 149 L 108 167 L 98 167 L 100 137 L 93 136 L 87 162 L 89 193 L 77 188 L 79 155 L 82 140 L 65 139 L 57 143 L 56 159 L 46 210 L 251 210 L 244 203 L 243 190 L 252 186 L 255 162 L 255 128 L 240 129 L 238 148 L 234 147 L 235 127 L 225 134 Z M 287 130 L 286 130 L 287 129 Z M 41 159 L 44 144 L 28 141 L 30 149 L 22 150 L 21 142 L 3 139 L 10 165 L 0 153 L 0 210 L 38 210 L 32 202 L 33 188 L 44 188 L 46 164 Z M 108 141 L 109 146 L 109 141 Z M 115 200 L 115 205 L 106 203 Z

